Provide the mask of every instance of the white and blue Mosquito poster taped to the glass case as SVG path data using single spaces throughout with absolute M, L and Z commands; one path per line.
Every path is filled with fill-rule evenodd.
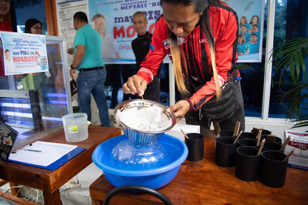
M 0 32 L 5 75 L 48 71 L 44 35 Z

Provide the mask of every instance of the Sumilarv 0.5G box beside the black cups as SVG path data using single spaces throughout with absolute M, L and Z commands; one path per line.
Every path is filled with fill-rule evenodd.
M 291 136 L 291 140 L 285 148 L 288 155 L 294 148 L 296 151 L 289 158 L 288 167 L 308 170 L 308 132 L 296 132 L 285 130 L 285 140 Z

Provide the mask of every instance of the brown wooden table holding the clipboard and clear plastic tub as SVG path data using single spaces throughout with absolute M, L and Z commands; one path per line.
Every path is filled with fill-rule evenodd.
M 67 142 L 63 129 L 39 139 L 43 142 L 71 144 L 86 148 L 85 151 L 58 169 L 51 171 L 0 160 L 0 178 L 42 190 L 46 205 L 60 205 L 59 188 L 92 163 L 92 153 L 100 143 L 121 135 L 121 130 L 119 128 L 89 126 L 88 133 L 88 139 L 79 143 Z

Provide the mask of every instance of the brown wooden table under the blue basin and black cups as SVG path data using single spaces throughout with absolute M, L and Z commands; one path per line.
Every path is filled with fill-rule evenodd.
M 307 204 L 308 171 L 288 168 L 283 188 L 270 188 L 260 181 L 245 182 L 235 177 L 235 167 L 215 164 L 215 138 L 205 137 L 204 159 L 182 163 L 176 177 L 158 191 L 173 204 Z M 115 188 L 104 175 L 90 186 L 92 204 L 103 204 Z M 124 192 L 113 196 L 109 204 L 163 204 L 148 194 Z

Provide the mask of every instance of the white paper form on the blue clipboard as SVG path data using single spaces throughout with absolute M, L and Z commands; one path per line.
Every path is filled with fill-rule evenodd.
M 9 159 L 46 167 L 74 150 L 76 147 L 77 145 L 37 141 L 32 143 L 32 146 L 26 147 L 25 149 L 39 150 L 42 152 L 20 150 L 15 154 L 10 154 Z

